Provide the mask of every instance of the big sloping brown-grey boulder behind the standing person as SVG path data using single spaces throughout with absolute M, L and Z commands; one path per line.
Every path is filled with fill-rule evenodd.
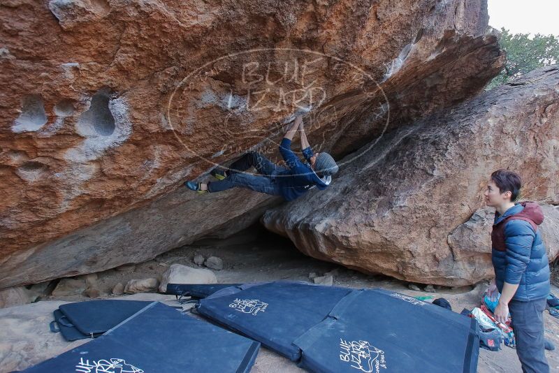
M 262 222 L 307 255 L 363 272 L 447 286 L 488 279 L 492 214 L 481 209 L 491 172 L 516 170 L 524 199 L 559 205 L 558 88 L 559 67 L 548 66 L 402 126 L 328 189 Z M 559 215 L 544 212 L 551 260 Z

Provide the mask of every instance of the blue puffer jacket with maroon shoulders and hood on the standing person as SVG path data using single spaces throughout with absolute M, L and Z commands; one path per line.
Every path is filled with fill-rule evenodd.
M 535 202 L 516 203 L 502 215 L 495 212 L 491 233 L 495 282 L 500 292 L 504 282 L 518 284 L 514 300 L 546 298 L 551 291 L 546 248 L 537 227 L 543 221 L 542 207 Z

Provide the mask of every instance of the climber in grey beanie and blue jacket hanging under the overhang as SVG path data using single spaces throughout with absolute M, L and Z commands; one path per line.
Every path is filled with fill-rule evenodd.
M 291 150 L 291 140 L 298 130 L 301 136 L 303 156 L 307 160 L 304 163 Z M 338 166 L 330 154 L 312 153 L 300 115 L 286 131 L 279 144 L 279 153 L 282 154 L 287 167 L 273 163 L 259 152 L 247 152 L 234 161 L 228 170 L 220 170 L 219 166 L 214 168 L 210 174 L 218 181 L 186 182 L 184 184 L 198 193 L 214 193 L 240 187 L 273 196 L 282 196 L 285 200 L 294 200 L 314 186 L 320 190 L 326 189 L 331 183 L 332 175 L 338 170 Z M 261 175 L 245 173 L 251 166 L 254 166 Z

